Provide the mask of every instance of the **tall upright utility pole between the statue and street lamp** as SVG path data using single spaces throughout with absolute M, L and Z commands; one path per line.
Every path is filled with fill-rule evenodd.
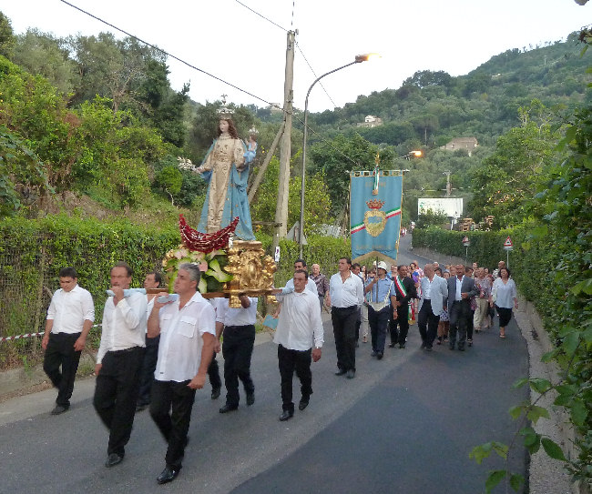
M 278 187 L 278 202 L 275 210 L 275 222 L 279 224 L 273 233 L 273 247 L 277 247 L 281 237 L 288 233 L 288 193 L 290 186 L 290 158 L 291 158 L 291 114 L 294 92 L 292 82 L 294 78 L 294 47 L 298 31 L 288 32 L 286 46 L 286 73 L 283 85 L 283 136 L 281 136 L 280 178 Z

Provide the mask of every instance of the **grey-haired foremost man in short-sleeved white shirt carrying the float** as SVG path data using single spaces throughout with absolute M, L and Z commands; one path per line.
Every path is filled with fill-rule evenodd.
M 161 304 L 157 299 L 148 317 L 148 337 L 160 335 L 150 416 L 168 443 L 158 484 L 179 475 L 195 392 L 204 387 L 214 354 L 216 315 L 198 291 L 200 275 L 197 265 L 181 264 L 174 286 L 179 300 Z

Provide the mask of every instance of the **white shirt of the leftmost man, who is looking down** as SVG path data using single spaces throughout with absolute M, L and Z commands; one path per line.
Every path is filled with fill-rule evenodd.
M 51 332 L 81 333 L 85 321 L 95 320 L 95 304 L 88 290 L 78 285 L 69 292 L 56 290 L 47 309 L 47 319 L 53 320 Z

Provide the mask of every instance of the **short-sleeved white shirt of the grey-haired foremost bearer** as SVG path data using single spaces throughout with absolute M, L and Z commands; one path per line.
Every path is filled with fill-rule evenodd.
M 214 307 L 199 292 L 179 309 L 179 300 L 158 313 L 160 344 L 154 378 L 183 382 L 195 378 L 201 363 L 203 335 L 216 337 Z

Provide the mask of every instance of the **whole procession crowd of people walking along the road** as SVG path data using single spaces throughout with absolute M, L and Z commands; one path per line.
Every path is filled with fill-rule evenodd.
M 97 351 L 97 376 L 93 405 L 105 424 L 107 468 L 125 457 L 135 414 L 145 408 L 167 443 L 165 469 L 159 484 L 177 478 L 189 442 L 189 421 L 196 390 L 207 378 L 211 398 L 220 396 L 222 381 L 216 355 L 224 358 L 226 402 L 220 413 L 239 408 L 240 382 L 247 406 L 255 402 L 250 360 L 255 342 L 258 299 L 240 297 L 240 307 L 229 307 L 226 298 L 206 299 L 198 290 L 201 272 L 195 264 L 179 266 L 174 294 L 159 291 L 162 277 L 151 272 L 144 289 L 130 288 L 132 269 L 118 262 L 110 270 L 111 287 L 102 318 Z M 370 341 L 372 356 L 384 357 L 387 334 L 390 348 L 405 348 L 411 324 L 422 338 L 421 348 L 433 351 L 434 343 L 464 351 L 472 346 L 474 331 L 492 328 L 495 307 L 499 336 L 517 308 L 515 283 L 500 261 L 497 269 L 411 265 L 387 268 L 383 261 L 364 267 L 349 257 L 338 262 L 338 271 L 327 278 L 318 264 L 311 275 L 304 259 L 294 262 L 294 275 L 281 288 L 274 314 L 281 382 L 281 415 L 294 416 L 292 380 L 301 382 L 299 410 L 308 407 L 312 395 L 311 363 L 322 358 L 324 334 L 322 309 L 331 312 L 336 350 L 335 375 L 355 378 L 356 348 Z M 90 293 L 78 286 L 77 272 L 59 272 L 60 288 L 47 310 L 42 346 L 44 369 L 57 388 L 53 415 L 70 407 L 80 353 L 95 320 Z M 362 335 L 361 335 L 362 333 Z

